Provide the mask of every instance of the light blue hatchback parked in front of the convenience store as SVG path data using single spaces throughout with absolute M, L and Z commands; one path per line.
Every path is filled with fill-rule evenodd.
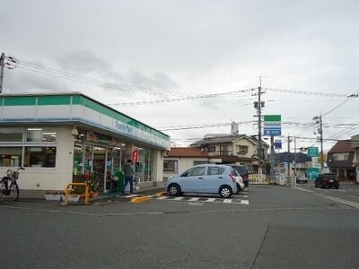
M 165 190 L 170 195 L 205 193 L 228 198 L 237 193 L 237 183 L 230 166 L 201 164 L 169 178 Z

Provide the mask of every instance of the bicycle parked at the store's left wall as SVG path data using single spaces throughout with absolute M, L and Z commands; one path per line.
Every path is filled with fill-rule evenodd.
M 6 172 L 7 176 L 0 180 L 0 202 L 4 200 L 5 195 L 11 195 L 13 201 L 19 199 L 20 190 L 16 182 L 16 180 L 19 179 L 19 169 L 23 170 L 24 168 L 19 167 L 16 170 L 8 169 Z

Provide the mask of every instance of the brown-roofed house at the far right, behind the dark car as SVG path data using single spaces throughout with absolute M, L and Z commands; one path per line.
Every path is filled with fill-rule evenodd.
M 358 143 L 352 143 L 351 139 L 338 141 L 328 151 L 327 164 L 330 172 L 336 173 L 339 180 L 355 181 L 355 152 L 358 151 Z

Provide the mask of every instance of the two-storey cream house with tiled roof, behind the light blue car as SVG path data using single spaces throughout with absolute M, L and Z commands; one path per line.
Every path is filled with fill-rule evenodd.
M 206 134 L 191 147 L 208 154 L 210 160 L 222 164 L 245 164 L 254 173 L 258 172 L 258 139 L 247 134 Z M 268 160 L 269 145 L 261 143 L 261 161 Z

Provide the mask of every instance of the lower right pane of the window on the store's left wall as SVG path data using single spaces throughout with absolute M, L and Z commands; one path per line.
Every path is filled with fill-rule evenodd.
M 26 146 L 25 167 L 56 167 L 56 147 Z

